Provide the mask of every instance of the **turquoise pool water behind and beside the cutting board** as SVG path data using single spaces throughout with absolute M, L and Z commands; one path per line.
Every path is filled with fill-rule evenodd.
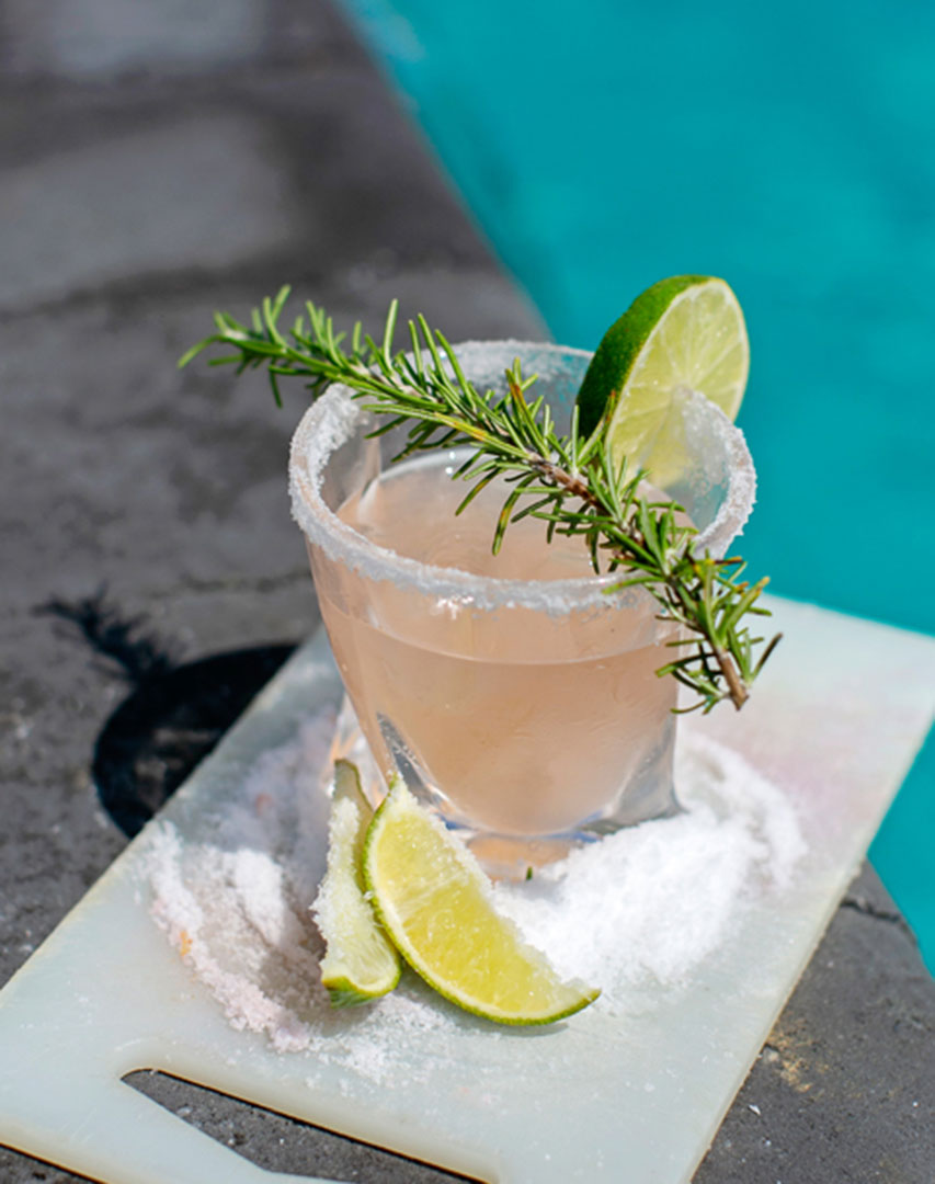
M 934 631 L 935 6 L 344 2 L 557 340 L 729 279 L 752 571 Z M 934 839 L 930 740 L 871 857 L 935 970 Z

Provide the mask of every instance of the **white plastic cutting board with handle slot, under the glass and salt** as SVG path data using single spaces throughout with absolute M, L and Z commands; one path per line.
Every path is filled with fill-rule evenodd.
M 531 1031 L 465 1015 L 441 1035 L 413 1031 L 393 1085 L 375 1085 L 342 1061 L 340 1042 L 327 1058 L 278 1055 L 227 1024 L 148 914 L 137 839 L 0 992 L 0 1143 L 108 1184 L 297 1179 L 121 1081 L 153 1068 L 497 1184 L 690 1180 L 935 706 L 935 639 L 772 607 L 786 639 L 750 703 L 690 726 L 784 789 L 810 851 L 794 886 L 749 908 L 688 989 L 632 1017 L 588 1009 Z M 230 778 L 338 693 L 317 636 L 162 817 L 182 835 L 204 831 Z

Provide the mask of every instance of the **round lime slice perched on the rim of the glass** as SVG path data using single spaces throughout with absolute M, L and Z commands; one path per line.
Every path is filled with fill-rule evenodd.
M 581 430 L 591 435 L 606 410 L 614 464 L 641 465 L 664 488 L 681 463 L 676 394 L 698 391 L 734 419 L 749 366 L 743 313 L 723 279 L 660 279 L 598 346 L 578 392 Z

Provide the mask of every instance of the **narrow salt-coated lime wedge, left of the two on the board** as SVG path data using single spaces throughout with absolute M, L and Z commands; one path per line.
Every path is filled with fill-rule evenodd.
M 328 870 L 312 905 L 328 946 L 321 970 L 333 1008 L 376 999 L 399 982 L 399 955 L 374 916 L 361 876 L 363 841 L 372 818 L 356 766 L 336 761 Z

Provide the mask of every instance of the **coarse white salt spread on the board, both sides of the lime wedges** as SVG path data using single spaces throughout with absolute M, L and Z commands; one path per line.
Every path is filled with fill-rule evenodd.
M 414 976 L 366 1008 L 329 1006 L 310 906 L 324 870 L 322 770 L 333 731 L 322 713 L 257 760 L 230 786 L 209 841 L 186 841 L 170 822 L 151 826 L 143 867 L 156 924 L 233 1027 L 381 1082 L 406 1030 L 464 1021 Z M 781 791 L 686 729 L 676 784 L 682 815 L 495 889 L 561 973 L 602 989 L 594 1006 L 605 1011 L 641 1011 L 679 990 L 729 939 L 747 901 L 781 892 L 805 850 Z

